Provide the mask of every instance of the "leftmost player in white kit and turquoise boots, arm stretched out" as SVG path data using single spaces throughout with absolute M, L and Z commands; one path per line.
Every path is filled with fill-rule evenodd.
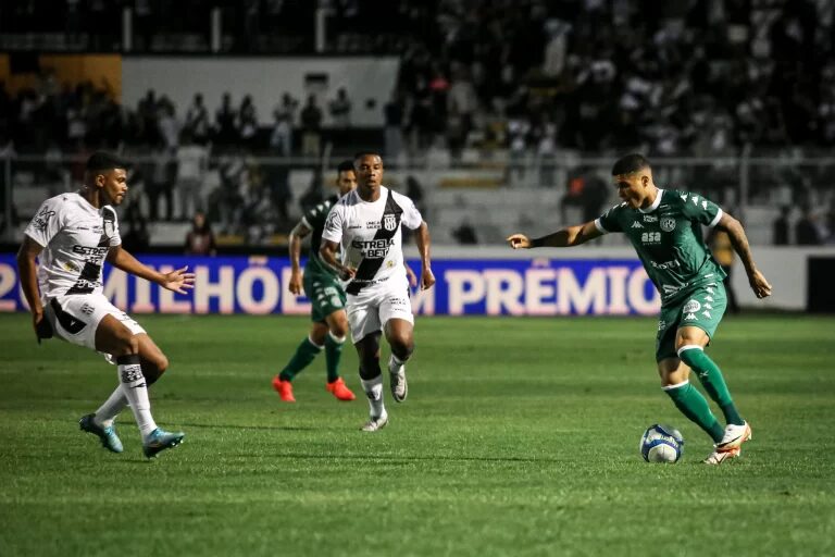
M 97 435 L 104 448 L 122 453 L 113 420 L 129 405 L 142 435 L 142 451 L 153 458 L 185 436 L 158 428 L 151 416 L 148 385 L 165 371 L 169 360 L 139 323 L 104 297 L 102 264 L 107 260 L 179 294 L 194 288 L 195 275 L 185 267 L 160 273 L 122 249 L 114 207 L 127 189 L 125 163 L 107 152 L 94 153 L 79 191 L 40 206 L 26 227 L 17 268 L 38 342 L 54 334 L 98 350 L 117 366 L 119 386 L 95 413 L 80 419 L 82 430 Z

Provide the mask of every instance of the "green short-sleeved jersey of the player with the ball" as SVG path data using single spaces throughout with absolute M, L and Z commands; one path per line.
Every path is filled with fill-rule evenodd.
M 665 304 L 693 287 L 725 277 L 701 233 L 701 225 L 715 226 L 722 214 L 719 206 L 697 194 L 659 188 L 651 207 L 632 209 L 623 202 L 595 225 L 603 234 L 626 235 Z

